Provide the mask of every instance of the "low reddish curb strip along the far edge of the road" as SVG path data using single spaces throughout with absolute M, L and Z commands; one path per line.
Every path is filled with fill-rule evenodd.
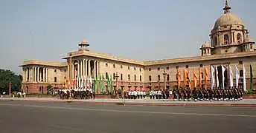
M 15 100 L 15 99 L 0 99 Z M 237 106 L 237 107 L 256 107 L 256 103 L 123 103 L 123 102 L 97 102 L 97 101 L 75 101 L 75 100 L 28 100 L 42 103 L 88 103 L 88 104 L 105 104 L 105 105 L 130 105 L 130 106 Z

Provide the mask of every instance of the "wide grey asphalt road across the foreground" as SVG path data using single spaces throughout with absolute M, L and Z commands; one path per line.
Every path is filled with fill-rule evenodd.
M 110 106 L 0 100 L 2 133 L 239 133 L 256 131 L 256 108 Z

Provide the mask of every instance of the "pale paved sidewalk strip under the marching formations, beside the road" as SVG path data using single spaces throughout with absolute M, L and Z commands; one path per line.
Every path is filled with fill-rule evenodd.
M 159 99 L 71 99 L 60 100 L 58 98 L 0 98 L 0 100 L 27 100 L 38 102 L 65 102 L 65 103 L 103 103 L 113 105 L 145 105 L 145 106 L 244 106 L 256 107 L 256 99 L 243 99 L 238 101 L 164 101 Z

